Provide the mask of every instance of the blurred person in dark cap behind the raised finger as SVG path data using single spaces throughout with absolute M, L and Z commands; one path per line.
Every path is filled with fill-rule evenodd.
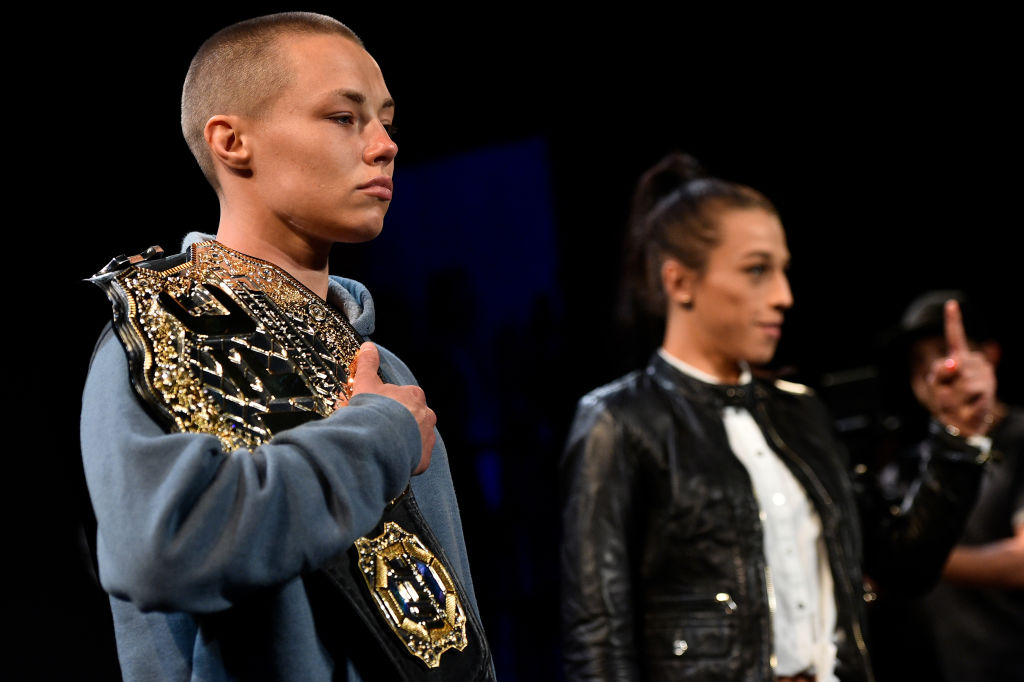
M 887 373 L 903 382 L 919 411 L 903 416 L 908 430 L 939 419 L 927 384 L 932 365 L 948 354 L 947 300 L 958 302 L 973 351 L 993 367 L 1002 354 L 982 309 L 963 291 L 929 291 L 911 301 L 885 352 Z M 916 600 L 880 591 L 871 607 L 882 679 L 905 679 L 928 666 L 931 679 L 950 682 L 1024 680 L 1024 409 L 996 396 L 990 421 L 992 461 L 941 581 Z M 912 495 L 930 458 L 923 439 L 885 464 L 880 480 L 890 504 Z

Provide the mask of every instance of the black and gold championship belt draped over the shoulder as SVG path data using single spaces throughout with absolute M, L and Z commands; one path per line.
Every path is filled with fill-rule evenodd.
M 350 397 L 362 339 L 272 263 L 207 241 L 169 258 L 160 247 L 120 256 L 89 281 L 113 303 L 135 391 L 171 431 L 215 435 L 224 452 L 253 450 Z M 371 534 L 304 581 L 311 601 L 338 602 L 317 627 L 333 621 L 343 640 L 335 644 L 357 665 L 383 678 L 489 679 L 482 628 L 411 487 Z M 366 633 L 353 635 L 353 614 Z

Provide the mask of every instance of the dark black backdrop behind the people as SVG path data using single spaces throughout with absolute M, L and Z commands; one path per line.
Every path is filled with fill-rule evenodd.
M 82 280 L 114 255 L 215 230 L 214 195 L 179 133 L 181 80 L 214 30 L 293 8 L 158 3 L 28 25 L 56 31 L 22 51 L 32 87 L 9 106 L 29 161 L 8 200 L 25 212 L 19 281 L 44 282 L 41 300 L 55 303 L 23 303 L 34 331 L 19 347 L 43 361 L 8 354 L 37 408 L 36 444 L 18 449 L 6 496 L 25 559 L 12 563 L 26 679 L 116 675 L 81 553 L 79 395 L 109 315 Z M 349 24 L 397 100 L 394 229 L 339 248 L 333 268 L 380 292 L 376 340 L 409 360 L 438 414 L 501 679 L 558 679 L 558 453 L 579 396 L 653 347 L 614 307 L 633 182 L 667 152 L 777 204 L 797 305 L 774 367 L 821 389 L 838 416 L 874 414 L 874 383 L 837 382 L 873 376 L 879 335 L 935 287 L 966 288 L 994 313 L 1000 390 L 1021 400 L 1007 17 L 300 8 Z M 425 212 L 402 209 L 403 173 L 420 187 L 410 207 L 418 197 Z M 418 229 L 433 230 L 443 258 L 410 260 L 401 236 Z M 417 267 L 396 274 L 399 253 Z M 479 263 L 503 256 L 496 287 Z

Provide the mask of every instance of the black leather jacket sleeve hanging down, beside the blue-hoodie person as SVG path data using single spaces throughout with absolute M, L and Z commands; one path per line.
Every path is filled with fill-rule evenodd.
M 578 407 L 561 462 L 562 635 L 566 680 L 634 680 L 631 570 L 635 466 L 621 421 Z

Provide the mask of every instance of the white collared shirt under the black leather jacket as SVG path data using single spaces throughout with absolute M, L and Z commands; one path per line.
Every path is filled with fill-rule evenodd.
M 680 372 L 710 384 L 722 382 L 687 365 L 664 348 L 658 354 Z M 745 367 L 739 384 L 751 383 Z M 804 487 L 768 445 L 751 413 L 726 407 L 722 422 L 729 446 L 751 476 L 760 507 L 772 631 L 775 638 L 774 672 L 795 675 L 828 671 L 822 682 L 837 679 L 836 598 L 828 566 L 821 519 Z

